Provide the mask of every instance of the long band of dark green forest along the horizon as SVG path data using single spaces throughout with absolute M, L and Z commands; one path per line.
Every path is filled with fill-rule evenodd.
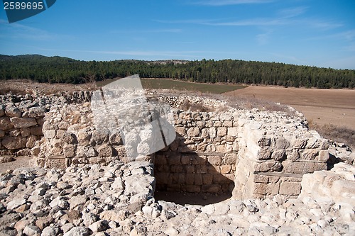
M 242 60 L 80 61 L 41 55 L 0 55 L 0 79 L 78 84 L 139 74 L 193 82 L 230 82 L 317 88 L 354 88 L 354 69 L 330 69 Z

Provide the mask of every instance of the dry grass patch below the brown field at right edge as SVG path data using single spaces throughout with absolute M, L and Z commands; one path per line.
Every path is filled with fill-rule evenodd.
M 308 120 L 308 127 L 311 130 L 317 130 L 322 137 L 336 142 L 344 142 L 351 147 L 351 150 L 355 149 L 355 130 L 332 124 L 319 125 L 313 120 Z

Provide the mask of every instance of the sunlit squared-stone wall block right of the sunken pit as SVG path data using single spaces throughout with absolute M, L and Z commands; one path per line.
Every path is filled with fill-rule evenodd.
M 307 130 L 302 119 L 281 115 L 257 111 L 241 118 L 243 150 L 236 169 L 244 174 L 236 178 L 237 198 L 297 196 L 303 174 L 327 169 L 329 141 Z

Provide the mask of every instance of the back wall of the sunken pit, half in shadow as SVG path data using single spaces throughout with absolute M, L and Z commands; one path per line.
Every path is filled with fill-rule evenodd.
M 157 189 L 231 192 L 239 150 L 238 113 L 175 111 L 177 139 L 155 154 Z

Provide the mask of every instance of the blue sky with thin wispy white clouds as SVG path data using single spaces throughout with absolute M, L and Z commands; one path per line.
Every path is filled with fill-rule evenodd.
M 355 1 L 57 0 L 11 24 L 1 2 L 0 54 L 355 69 Z

